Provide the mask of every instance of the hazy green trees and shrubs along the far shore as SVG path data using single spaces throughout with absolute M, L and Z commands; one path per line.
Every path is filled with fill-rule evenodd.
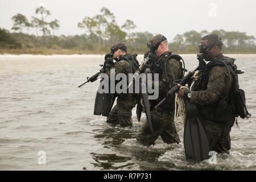
M 84 34 L 73 36 L 56 36 L 60 27 L 59 20 L 46 22 L 46 17 L 51 13 L 45 7 L 37 7 L 35 14 L 40 18 L 32 16 L 31 21 L 22 14 L 13 16 L 14 24 L 11 29 L 14 32 L 0 28 L 0 54 L 104 54 L 116 42 L 126 42 L 130 53 L 144 53 L 147 51 L 148 40 L 153 36 L 150 32 L 134 32 L 137 26 L 129 19 L 119 26 L 115 22 L 114 14 L 106 7 L 102 7 L 100 14 L 85 16 L 77 23 L 84 30 Z M 27 29 L 26 33 L 24 28 Z M 36 30 L 36 35 L 30 34 L 31 28 Z M 38 31 L 41 32 L 40 36 Z M 254 36 L 247 36 L 245 32 L 224 30 L 192 30 L 178 34 L 174 40 L 169 40 L 170 50 L 175 53 L 197 53 L 200 39 L 209 33 L 221 36 L 225 53 L 256 53 Z

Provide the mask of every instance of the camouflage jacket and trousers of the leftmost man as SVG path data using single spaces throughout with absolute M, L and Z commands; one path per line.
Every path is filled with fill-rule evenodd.
M 124 73 L 127 76 L 131 73 L 131 65 L 126 60 L 117 61 L 114 63 L 113 68 L 115 69 L 115 76 L 118 73 Z M 110 77 L 110 70 L 106 71 L 106 74 Z M 109 113 L 109 117 L 107 118 L 108 123 L 112 123 L 120 126 L 132 126 L 133 122 L 131 121 L 131 110 L 136 105 L 136 100 L 133 94 L 121 93 L 118 94 L 117 104 L 113 107 L 113 109 Z

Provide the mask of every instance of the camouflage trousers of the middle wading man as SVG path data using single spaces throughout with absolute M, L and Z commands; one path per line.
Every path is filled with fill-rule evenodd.
M 150 111 L 154 134 L 151 134 L 148 122 L 144 121 L 139 128 L 136 139 L 144 146 L 155 144 L 155 140 L 160 136 L 164 143 L 179 143 L 179 135 L 174 123 L 174 111 L 156 110 Z

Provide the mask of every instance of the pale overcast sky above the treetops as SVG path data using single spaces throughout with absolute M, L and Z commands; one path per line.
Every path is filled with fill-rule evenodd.
M 59 34 L 64 35 L 82 34 L 77 23 L 85 16 L 99 14 L 105 6 L 114 13 L 120 26 L 131 19 L 137 25 L 135 31 L 162 33 L 169 40 L 189 30 L 221 28 L 256 37 L 255 0 L 0 0 L 0 27 L 10 30 L 11 17 L 17 13 L 28 18 L 35 16 L 40 3 L 51 12 L 48 21 L 60 20 Z

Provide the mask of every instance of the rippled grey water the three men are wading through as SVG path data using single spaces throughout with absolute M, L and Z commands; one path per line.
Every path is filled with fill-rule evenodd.
M 195 55 L 184 55 L 186 67 L 196 67 Z M 183 142 L 144 147 L 133 127 L 108 125 L 93 115 L 97 82 L 77 86 L 98 71 L 104 56 L 0 56 L 0 169 L 76 170 L 198 170 L 256 168 L 256 55 L 237 58 L 240 86 L 253 116 L 232 128 L 232 149 L 216 165 L 185 160 Z M 142 56 L 139 56 L 142 60 Z M 143 115 L 142 119 L 146 119 Z M 180 139 L 183 126 L 177 125 Z M 46 165 L 38 152 L 46 151 Z

